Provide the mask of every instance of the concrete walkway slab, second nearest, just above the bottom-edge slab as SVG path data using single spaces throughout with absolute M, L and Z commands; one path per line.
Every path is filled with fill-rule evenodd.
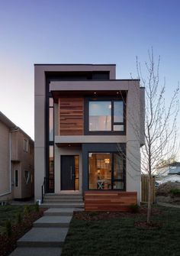
M 31 228 L 17 245 L 18 247 L 62 247 L 65 241 L 68 228 Z M 26 254 L 25 254 L 26 255 Z M 43 254 L 42 254 L 43 255 Z M 46 254 L 44 254 L 46 255 Z

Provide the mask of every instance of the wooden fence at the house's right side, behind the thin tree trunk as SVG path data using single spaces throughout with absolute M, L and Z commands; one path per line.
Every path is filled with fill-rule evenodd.
M 155 177 L 152 177 L 151 187 L 152 187 L 151 202 L 155 203 L 155 199 L 156 199 Z M 142 203 L 148 202 L 148 190 L 149 190 L 148 176 L 142 175 L 141 176 L 141 202 Z

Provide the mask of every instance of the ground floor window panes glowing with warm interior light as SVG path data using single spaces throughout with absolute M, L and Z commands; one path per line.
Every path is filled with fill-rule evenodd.
M 88 153 L 90 190 L 125 190 L 125 159 L 119 153 Z

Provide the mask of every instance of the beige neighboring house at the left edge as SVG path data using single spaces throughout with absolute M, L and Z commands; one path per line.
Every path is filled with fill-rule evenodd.
M 34 141 L 0 112 L 0 202 L 34 196 Z

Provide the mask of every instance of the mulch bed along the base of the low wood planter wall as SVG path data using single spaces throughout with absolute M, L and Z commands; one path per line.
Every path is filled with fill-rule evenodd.
M 114 219 L 114 218 L 127 218 L 127 217 L 135 217 L 140 215 L 146 215 L 147 208 L 140 207 L 139 212 L 74 212 L 74 217 L 76 219 L 81 219 L 85 221 L 98 221 L 98 220 L 107 220 L 107 219 Z M 153 208 L 151 215 L 161 215 L 162 212 L 159 209 Z

